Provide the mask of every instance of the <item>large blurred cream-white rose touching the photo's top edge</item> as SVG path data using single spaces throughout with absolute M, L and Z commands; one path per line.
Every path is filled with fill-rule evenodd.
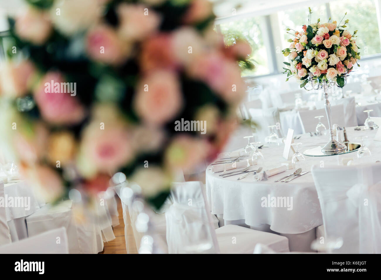
M 86 30 L 101 15 L 100 5 L 94 0 L 63 0 L 58 7 L 59 15 L 56 14 L 57 6 L 51 8 L 51 20 L 54 27 L 66 36 Z

